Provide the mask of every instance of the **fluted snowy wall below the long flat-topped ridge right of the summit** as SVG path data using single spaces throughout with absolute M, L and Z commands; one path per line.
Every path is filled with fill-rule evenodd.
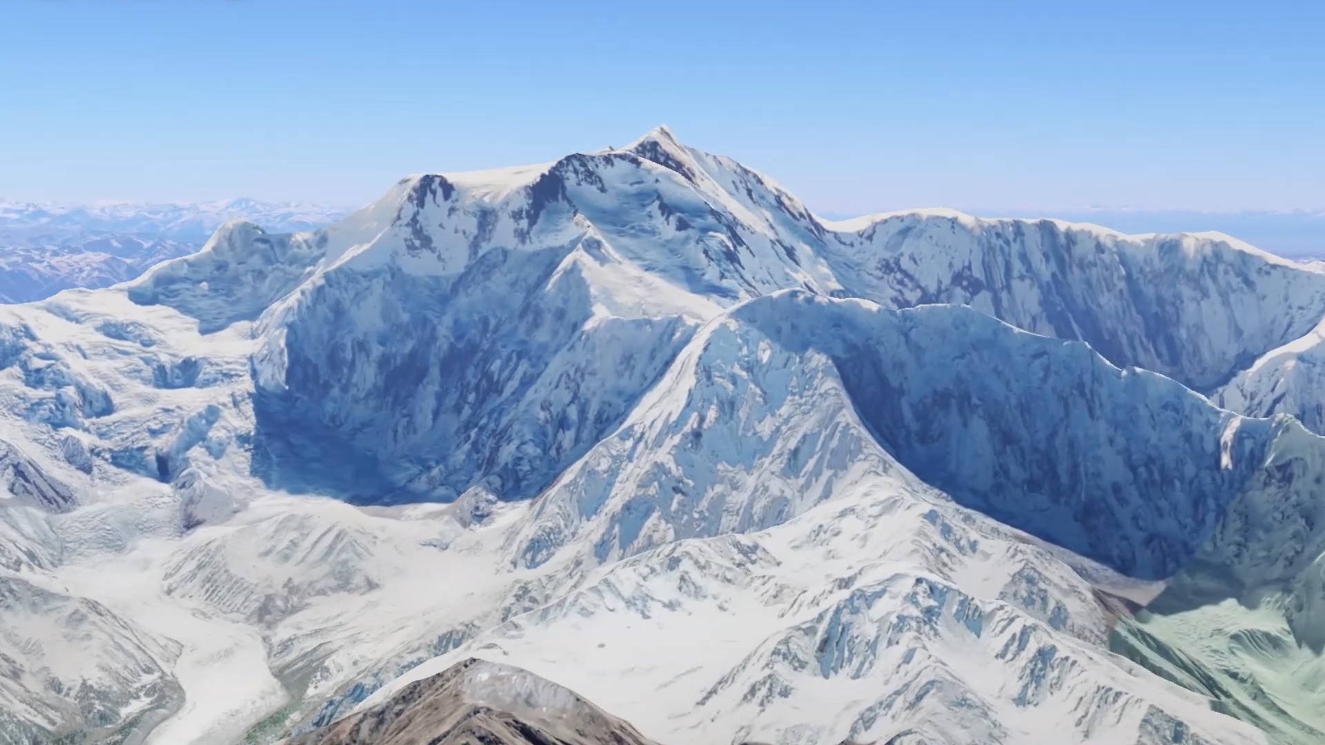
M 852 296 L 970 305 L 1198 391 L 1305 334 L 1325 310 L 1325 276 L 1219 235 L 902 213 L 835 243 L 828 256 Z

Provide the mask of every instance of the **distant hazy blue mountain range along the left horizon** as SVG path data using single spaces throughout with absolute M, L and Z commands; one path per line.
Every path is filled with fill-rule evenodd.
M 298 232 L 331 224 L 346 212 L 253 199 L 97 205 L 0 201 L 0 302 L 132 280 L 160 261 L 196 252 L 228 220 Z

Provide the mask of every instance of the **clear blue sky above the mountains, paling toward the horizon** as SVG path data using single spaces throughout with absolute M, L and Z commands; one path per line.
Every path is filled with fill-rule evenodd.
M 0 196 L 359 204 L 665 122 L 835 215 L 1320 209 L 1322 48 L 1305 0 L 11 0 Z

